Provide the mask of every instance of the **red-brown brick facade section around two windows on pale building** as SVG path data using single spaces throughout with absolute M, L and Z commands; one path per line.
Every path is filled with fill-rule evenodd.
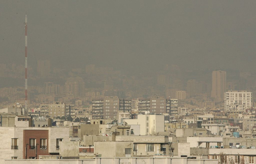
M 27 159 L 36 156 L 36 149 L 29 149 L 29 138 L 36 138 L 37 157 L 38 155 L 49 155 L 49 137 L 48 130 L 23 130 L 23 159 L 26 159 L 26 144 Z M 40 139 L 47 139 L 47 149 L 40 149 Z

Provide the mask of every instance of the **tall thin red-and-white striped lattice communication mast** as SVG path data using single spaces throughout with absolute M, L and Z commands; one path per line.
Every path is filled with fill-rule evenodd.
M 27 84 L 27 75 L 28 75 L 28 50 L 27 50 L 27 15 L 25 17 L 25 115 L 28 115 L 28 84 Z

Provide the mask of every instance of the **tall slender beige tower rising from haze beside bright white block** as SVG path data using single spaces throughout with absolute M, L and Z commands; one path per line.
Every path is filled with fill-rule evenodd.
M 212 71 L 211 97 L 217 102 L 225 99 L 226 92 L 226 71 Z

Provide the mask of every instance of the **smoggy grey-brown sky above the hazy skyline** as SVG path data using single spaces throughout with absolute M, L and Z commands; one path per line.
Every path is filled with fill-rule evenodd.
M 256 1 L 0 1 L 0 63 L 254 71 Z

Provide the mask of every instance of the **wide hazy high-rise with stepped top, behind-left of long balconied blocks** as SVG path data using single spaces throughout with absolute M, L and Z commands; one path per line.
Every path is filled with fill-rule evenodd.
M 85 82 L 81 77 L 73 77 L 67 79 L 65 83 L 65 93 L 72 93 L 73 96 L 84 96 Z

